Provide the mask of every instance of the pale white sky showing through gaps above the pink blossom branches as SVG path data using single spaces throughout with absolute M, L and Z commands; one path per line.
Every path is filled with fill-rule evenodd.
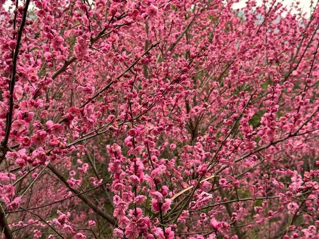
M 92 1 L 92 0 L 89 0 L 89 1 Z M 227 1 L 227 0 L 226 0 Z M 235 3 L 235 4 L 233 4 L 233 8 L 234 9 L 238 9 L 238 8 L 243 8 L 243 7 L 245 7 L 245 5 L 246 5 L 246 2 L 247 0 L 240 0 L 238 3 Z M 248 0 L 249 1 L 249 0 Z M 310 16 L 310 11 L 311 11 L 311 1 L 312 0 L 277 0 L 278 2 L 282 2 L 282 4 L 283 5 L 285 5 L 285 6 L 288 6 L 288 9 L 289 9 L 289 6 L 293 3 L 293 2 L 296 2 L 296 1 L 299 1 L 300 3 L 299 3 L 299 7 L 301 7 L 301 9 L 302 9 L 302 11 L 304 12 L 304 13 L 306 13 L 306 17 L 309 17 Z M 263 3 L 263 0 L 257 0 L 257 5 L 258 6 L 260 6 L 260 5 L 262 5 Z M 317 0 L 314 0 L 314 2 L 316 3 L 317 2 Z M 5 9 L 7 9 L 8 8 L 8 6 L 11 4 L 11 0 L 7 0 L 5 3 L 4 3 L 4 5 L 3 5 L 3 7 L 5 8 Z M 293 11 L 294 13 L 297 13 L 297 11 Z

